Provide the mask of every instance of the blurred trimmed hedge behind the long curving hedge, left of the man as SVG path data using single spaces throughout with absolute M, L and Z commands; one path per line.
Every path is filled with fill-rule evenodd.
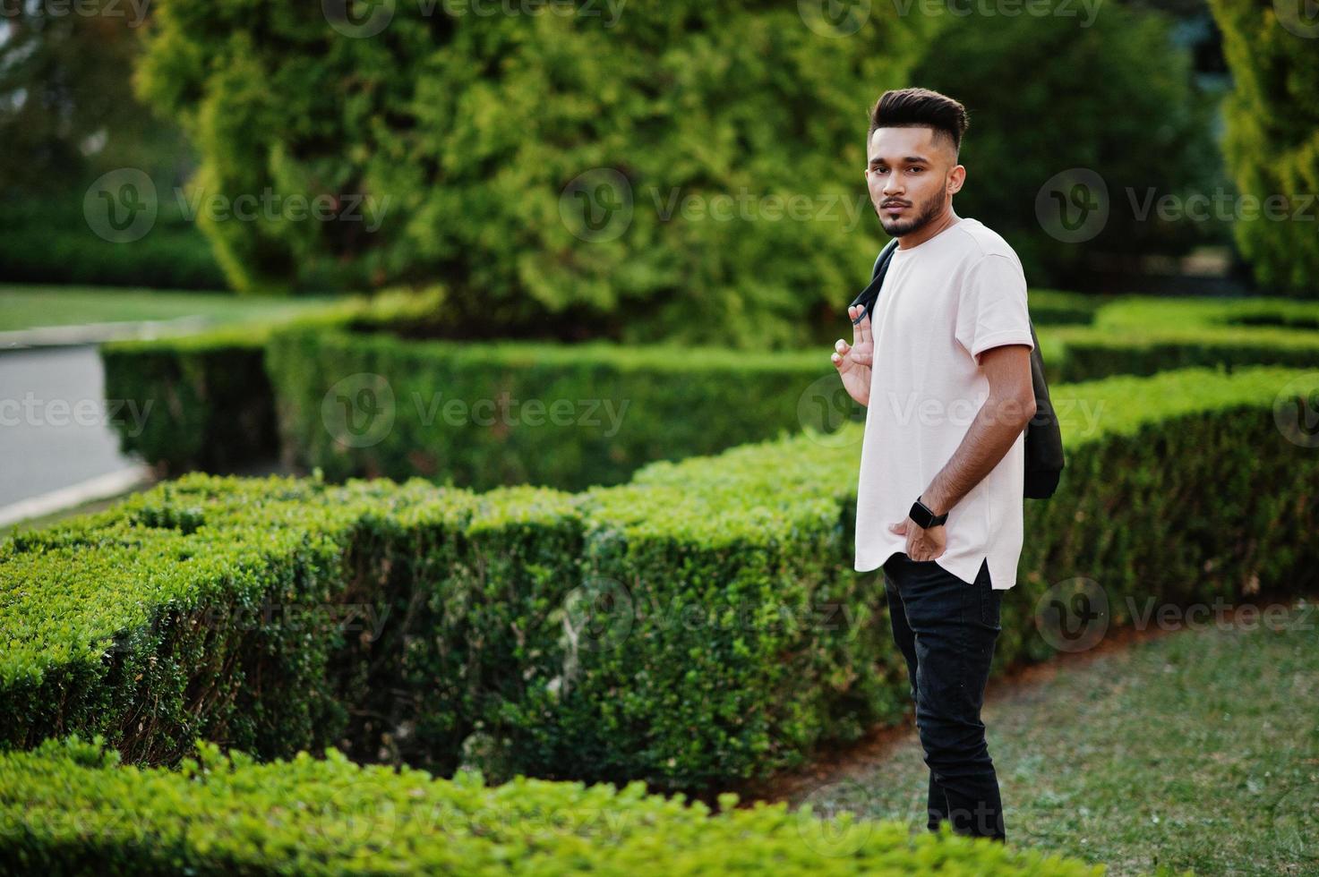
M 272 336 L 266 365 L 288 463 L 334 481 L 415 475 L 475 489 L 617 484 L 652 460 L 799 431 L 802 393 L 813 382 L 820 400 L 842 389 L 820 352 L 468 344 L 301 327 Z M 361 386 L 369 402 L 357 402 Z M 342 405 L 327 414 L 331 392 Z M 355 422 L 375 433 L 359 440 Z

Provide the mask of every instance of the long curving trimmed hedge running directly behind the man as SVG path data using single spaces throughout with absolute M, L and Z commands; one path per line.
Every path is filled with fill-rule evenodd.
M 1026 505 L 996 670 L 1050 654 L 1034 607 L 1076 576 L 1115 624 L 1128 596 L 1311 586 L 1319 455 L 1274 405 L 1315 392 L 1279 368 L 1055 386 L 1067 471 Z M 191 475 L 11 537 L 0 740 L 99 732 L 169 762 L 200 735 L 677 790 L 801 765 L 907 706 L 878 576 L 852 571 L 860 431 L 579 495 Z

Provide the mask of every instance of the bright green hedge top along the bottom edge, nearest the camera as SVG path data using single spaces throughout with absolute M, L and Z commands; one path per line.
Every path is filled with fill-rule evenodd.
M 1103 865 L 810 806 L 719 812 L 644 783 L 553 783 L 359 768 L 331 750 L 260 765 L 214 745 L 178 771 L 77 739 L 0 754 L 0 866 L 82 874 L 1034 874 Z

